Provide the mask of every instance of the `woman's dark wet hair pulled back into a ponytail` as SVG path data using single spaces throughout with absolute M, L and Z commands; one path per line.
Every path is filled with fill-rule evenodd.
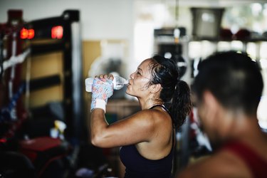
M 152 75 L 150 83 L 160 83 L 162 86 L 159 98 L 169 109 L 174 127 L 181 126 L 192 108 L 189 85 L 179 80 L 178 66 L 172 59 L 155 55 L 152 57 L 150 70 Z

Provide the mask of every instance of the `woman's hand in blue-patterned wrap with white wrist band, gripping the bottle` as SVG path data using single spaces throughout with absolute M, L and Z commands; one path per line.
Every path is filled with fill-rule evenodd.
M 91 111 L 101 108 L 105 111 L 108 98 L 113 94 L 113 75 L 96 75 L 92 84 L 92 103 Z

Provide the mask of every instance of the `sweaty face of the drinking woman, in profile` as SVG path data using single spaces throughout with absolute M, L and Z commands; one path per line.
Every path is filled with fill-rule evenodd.
M 130 75 L 129 85 L 127 86 L 126 93 L 128 95 L 136 96 L 137 98 L 146 96 L 148 94 L 148 84 L 150 83 L 151 73 L 149 64 L 151 59 L 148 58 L 142 61 L 137 67 L 135 73 Z

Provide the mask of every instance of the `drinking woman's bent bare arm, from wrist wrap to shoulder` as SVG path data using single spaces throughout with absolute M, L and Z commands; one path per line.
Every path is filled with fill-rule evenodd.
M 142 110 L 124 120 L 108 125 L 104 111 L 95 109 L 90 118 L 91 142 L 98 147 L 117 147 L 149 142 L 155 130 L 153 115 L 155 116 L 153 110 Z

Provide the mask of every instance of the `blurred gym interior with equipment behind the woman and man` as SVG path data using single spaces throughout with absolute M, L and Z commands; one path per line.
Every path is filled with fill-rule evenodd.
M 155 53 L 190 85 L 207 56 L 243 51 L 267 83 L 266 0 L 0 0 L 0 31 L 0 177 L 123 177 L 119 148 L 90 145 L 85 78 L 129 78 Z M 140 110 L 125 90 L 108 102 L 110 123 Z M 212 152 L 196 112 L 177 131 L 174 172 Z

